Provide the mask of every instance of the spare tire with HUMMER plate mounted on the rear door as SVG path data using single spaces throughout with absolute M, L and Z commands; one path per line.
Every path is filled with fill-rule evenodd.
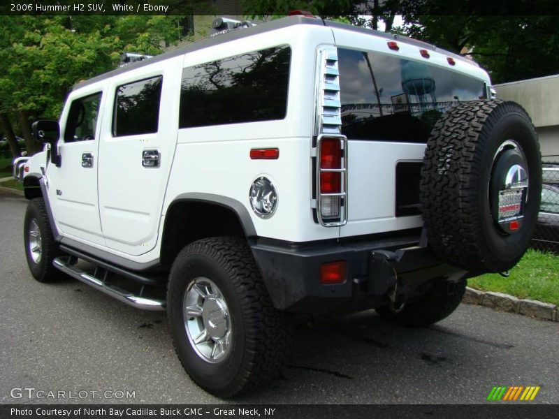
M 421 169 L 430 248 L 477 274 L 509 270 L 532 237 L 541 189 L 537 135 L 520 105 L 489 99 L 452 108 L 431 131 Z

